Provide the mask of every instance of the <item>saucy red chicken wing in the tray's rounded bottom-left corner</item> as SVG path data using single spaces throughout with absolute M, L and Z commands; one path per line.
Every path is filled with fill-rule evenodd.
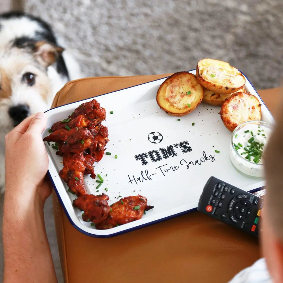
M 101 194 L 98 196 L 84 195 L 73 201 L 73 205 L 84 211 L 83 221 L 91 221 L 95 224 L 103 221 L 110 212 L 108 205 L 109 196 Z

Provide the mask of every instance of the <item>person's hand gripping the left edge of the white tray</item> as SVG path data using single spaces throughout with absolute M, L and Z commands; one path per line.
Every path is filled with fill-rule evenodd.
M 39 112 L 26 118 L 5 137 L 6 193 L 37 197 L 42 204 L 52 190 L 44 181 L 48 156 L 41 133 L 45 127 L 46 116 Z

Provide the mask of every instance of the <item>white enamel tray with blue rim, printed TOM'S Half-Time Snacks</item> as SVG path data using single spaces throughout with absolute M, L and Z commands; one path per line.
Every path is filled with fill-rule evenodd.
M 190 72 L 195 74 L 195 70 Z M 67 191 L 67 184 L 59 177 L 62 157 L 46 143 L 48 170 L 54 189 L 71 224 L 82 233 L 92 237 L 112 237 L 194 211 L 211 176 L 250 192 L 264 186 L 262 179 L 245 177 L 233 168 L 229 159 L 231 132 L 220 119 L 220 107 L 200 104 L 183 117 L 169 116 L 159 108 L 156 93 L 165 79 L 95 97 L 106 109 L 106 121 L 102 124 L 108 127 L 110 141 L 106 151 L 111 155 L 105 154 L 94 164 L 95 173 L 104 178 L 99 192 L 96 192 L 98 183 L 85 175 L 87 191 L 89 194 L 108 194 L 109 204 L 119 200 L 119 196 L 145 196 L 148 205 L 155 208 L 147 211 L 140 220 L 108 230 L 96 230 L 84 222 L 82 211 L 72 206 L 76 196 Z M 247 78 L 245 87 L 261 102 L 262 120 L 273 123 L 269 110 Z M 47 127 L 42 136 L 48 135 L 53 123 L 67 118 L 82 102 L 92 99 L 48 110 Z M 159 143 L 151 142 L 153 135 L 158 137 Z M 204 156 L 207 158 L 202 158 Z

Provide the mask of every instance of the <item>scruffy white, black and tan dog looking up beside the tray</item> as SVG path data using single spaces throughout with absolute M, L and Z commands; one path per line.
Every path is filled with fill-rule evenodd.
M 0 193 L 5 186 L 5 135 L 32 113 L 46 111 L 59 89 L 81 77 L 50 26 L 20 12 L 0 14 Z

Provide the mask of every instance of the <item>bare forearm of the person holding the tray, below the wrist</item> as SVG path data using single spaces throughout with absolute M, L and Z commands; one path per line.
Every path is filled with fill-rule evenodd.
M 57 282 L 37 196 L 19 199 L 6 188 L 3 217 L 4 282 Z

